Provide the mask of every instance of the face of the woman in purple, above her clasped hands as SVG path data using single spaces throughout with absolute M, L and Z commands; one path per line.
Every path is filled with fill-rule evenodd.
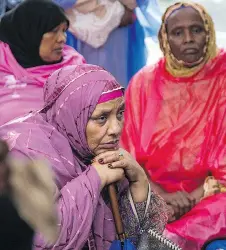
M 124 97 L 96 106 L 86 127 L 87 143 L 95 155 L 119 148 L 124 108 Z

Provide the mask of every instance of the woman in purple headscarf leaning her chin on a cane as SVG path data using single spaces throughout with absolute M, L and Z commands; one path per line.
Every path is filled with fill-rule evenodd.
M 123 93 L 98 66 L 67 66 L 46 82 L 41 111 L 0 128 L 12 157 L 45 159 L 55 173 L 60 235 L 54 246 L 37 236 L 35 249 L 108 250 L 116 233 L 105 187 L 122 180 L 119 203 L 129 237 L 136 242 L 141 228 L 163 231 L 163 200 L 150 191 L 140 165 L 119 149 Z

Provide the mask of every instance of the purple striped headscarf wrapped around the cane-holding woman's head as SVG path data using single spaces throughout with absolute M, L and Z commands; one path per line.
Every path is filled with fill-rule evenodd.
M 44 87 L 46 121 L 64 135 L 73 150 L 74 162 L 82 170 L 94 157 L 86 140 L 86 126 L 104 91 L 123 87 L 99 66 L 79 65 L 62 68 Z

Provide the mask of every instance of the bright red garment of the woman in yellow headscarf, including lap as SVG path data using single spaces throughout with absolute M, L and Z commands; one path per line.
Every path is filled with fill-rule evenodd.
M 226 52 L 188 78 L 165 60 L 135 75 L 126 93 L 122 144 L 168 193 L 192 192 L 211 174 L 226 186 Z M 226 235 L 226 193 L 199 202 L 167 225 L 183 250 Z

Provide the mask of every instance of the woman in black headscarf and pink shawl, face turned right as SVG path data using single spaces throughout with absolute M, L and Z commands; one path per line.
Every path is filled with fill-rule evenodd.
M 84 63 L 65 45 L 69 21 L 51 0 L 26 0 L 0 22 L 0 125 L 43 105 L 55 70 Z

